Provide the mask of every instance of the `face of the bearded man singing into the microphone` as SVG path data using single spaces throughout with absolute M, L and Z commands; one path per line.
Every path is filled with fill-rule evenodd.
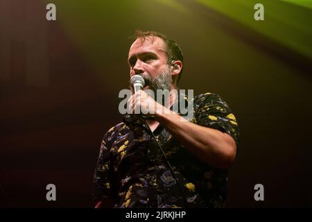
M 159 37 L 139 38 L 130 47 L 128 63 L 130 77 L 139 74 L 148 87 L 155 89 L 171 88 L 171 74 L 167 65 L 166 46 Z M 144 87 L 146 88 L 146 87 Z

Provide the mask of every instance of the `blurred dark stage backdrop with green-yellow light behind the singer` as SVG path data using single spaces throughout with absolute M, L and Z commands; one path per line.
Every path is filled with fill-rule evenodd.
M 180 44 L 181 89 L 219 94 L 239 121 L 226 207 L 312 207 L 311 12 L 309 0 L 0 0 L 0 206 L 94 206 L 101 139 L 122 118 L 128 37 L 142 29 Z

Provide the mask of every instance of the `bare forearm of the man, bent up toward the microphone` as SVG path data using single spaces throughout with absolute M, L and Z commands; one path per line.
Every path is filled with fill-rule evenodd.
M 219 130 L 181 121 L 179 114 L 156 113 L 156 119 L 199 160 L 213 167 L 227 169 L 236 153 L 234 139 Z

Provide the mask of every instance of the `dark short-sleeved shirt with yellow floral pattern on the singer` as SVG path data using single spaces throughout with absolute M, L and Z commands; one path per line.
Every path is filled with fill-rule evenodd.
M 236 118 L 217 94 L 193 99 L 191 122 L 227 133 L 239 148 Z M 103 137 L 94 198 L 110 198 L 114 207 L 223 207 L 227 170 L 200 162 L 160 124 L 153 133 L 175 175 L 145 124 L 126 115 Z

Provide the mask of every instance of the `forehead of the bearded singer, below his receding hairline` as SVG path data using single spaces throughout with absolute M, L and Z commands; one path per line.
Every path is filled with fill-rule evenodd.
M 156 36 L 148 36 L 138 38 L 132 43 L 129 50 L 129 56 L 134 54 L 144 53 L 146 51 L 152 51 L 154 53 L 166 53 L 166 45 L 164 40 Z

